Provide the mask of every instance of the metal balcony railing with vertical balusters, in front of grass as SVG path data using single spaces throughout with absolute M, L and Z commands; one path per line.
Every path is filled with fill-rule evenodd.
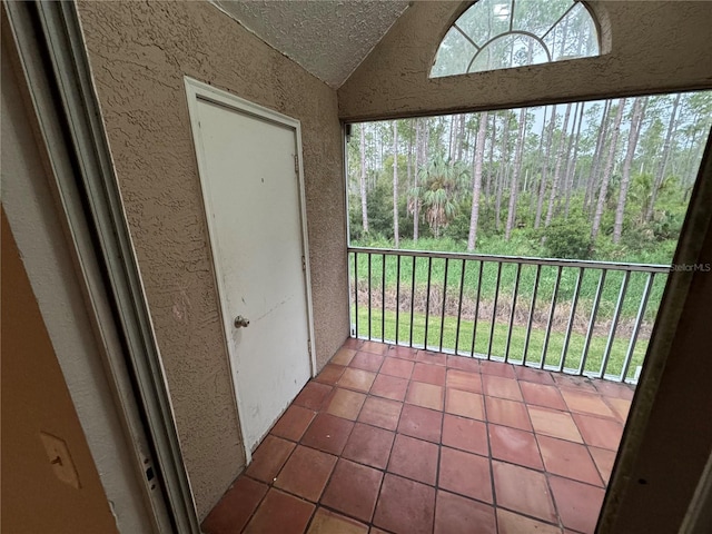
M 670 270 L 348 248 L 352 336 L 635 383 Z

